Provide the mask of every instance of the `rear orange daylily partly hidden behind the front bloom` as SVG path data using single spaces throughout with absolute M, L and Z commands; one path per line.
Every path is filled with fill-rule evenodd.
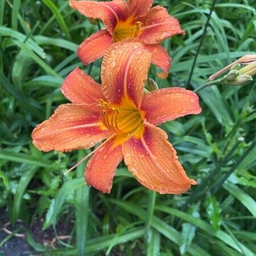
M 152 7 L 154 0 L 113 0 L 111 2 L 69 1 L 88 18 L 101 19 L 106 29 L 87 38 L 77 49 L 77 54 L 84 64 L 92 63 L 102 57 L 108 47 L 123 39 L 142 40 L 149 51 L 156 51 L 152 63 L 164 73 L 166 78 L 171 66 L 171 58 L 160 42 L 176 34 L 184 34 L 177 19 L 170 16 L 161 6 Z

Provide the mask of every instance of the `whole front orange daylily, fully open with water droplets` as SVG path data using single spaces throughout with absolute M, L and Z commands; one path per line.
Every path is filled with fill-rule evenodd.
M 60 105 L 36 126 L 34 145 L 46 152 L 65 152 L 90 148 L 106 139 L 88 155 L 93 156 L 85 170 L 87 184 L 104 193 L 110 192 L 122 159 L 141 184 L 159 193 L 183 193 L 197 184 L 185 174 L 167 134 L 156 126 L 199 114 L 199 98 L 179 87 L 144 94 L 151 60 L 152 53 L 143 43 L 128 39 L 106 52 L 102 86 L 76 68 L 61 86 L 72 104 Z

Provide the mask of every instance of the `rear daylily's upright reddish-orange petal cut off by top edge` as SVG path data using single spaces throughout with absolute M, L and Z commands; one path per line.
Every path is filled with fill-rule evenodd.
M 154 0 L 128 0 L 130 15 L 134 17 L 147 14 Z

